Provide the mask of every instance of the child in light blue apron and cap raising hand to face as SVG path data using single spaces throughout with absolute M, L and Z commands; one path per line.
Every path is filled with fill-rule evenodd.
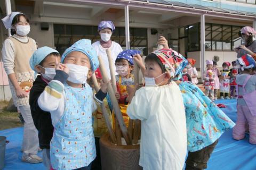
M 54 126 L 51 165 L 53 169 L 91 169 L 96 157 L 92 128 L 92 112 L 97 109 L 94 100 L 102 103 L 108 82 L 102 82 L 95 95 L 86 83 L 99 66 L 91 40 L 81 39 L 66 49 L 61 62 L 56 62 L 56 75 L 37 101 L 43 111 L 51 113 Z

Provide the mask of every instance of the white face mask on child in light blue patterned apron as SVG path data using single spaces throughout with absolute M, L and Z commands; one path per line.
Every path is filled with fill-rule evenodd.
M 69 68 L 68 81 L 77 84 L 86 83 L 87 74 L 89 72 L 89 69 L 86 66 L 76 64 L 67 64 L 67 66 Z

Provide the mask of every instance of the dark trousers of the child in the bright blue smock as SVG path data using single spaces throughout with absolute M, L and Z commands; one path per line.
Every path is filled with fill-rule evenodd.
M 197 150 L 195 152 L 188 152 L 185 170 L 199 170 L 207 168 L 207 162 L 210 159 L 211 154 L 217 143 L 218 140 L 201 150 Z

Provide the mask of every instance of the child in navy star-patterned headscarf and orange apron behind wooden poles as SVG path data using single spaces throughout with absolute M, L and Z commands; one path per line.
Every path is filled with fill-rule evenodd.
M 118 75 L 116 75 L 116 87 L 119 93 L 119 95 L 116 96 L 126 126 L 129 125 L 129 116 L 126 113 L 126 109 L 129 103 L 129 94 L 126 88 L 127 86 L 134 86 L 134 76 L 131 72 L 133 70 L 132 57 L 135 54 L 140 54 L 140 51 L 128 49 L 119 53 L 116 58 L 116 72 L 118 73 Z M 113 120 L 114 118 L 115 117 L 113 114 Z M 113 124 L 115 125 L 115 121 L 113 121 Z

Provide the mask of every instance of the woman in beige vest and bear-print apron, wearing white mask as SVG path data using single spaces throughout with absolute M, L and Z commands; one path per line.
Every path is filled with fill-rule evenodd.
M 9 78 L 14 105 L 18 107 L 25 120 L 22 161 L 41 163 L 37 156 L 38 136 L 29 107 L 29 91 L 33 86 L 34 71 L 29 66 L 29 58 L 36 50 L 34 39 L 27 37 L 30 31 L 29 20 L 25 14 L 12 12 L 2 19 L 6 29 L 15 29 L 16 33 L 8 37 L 3 44 L 2 56 L 5 72 Z

